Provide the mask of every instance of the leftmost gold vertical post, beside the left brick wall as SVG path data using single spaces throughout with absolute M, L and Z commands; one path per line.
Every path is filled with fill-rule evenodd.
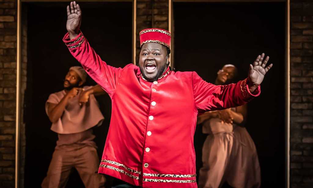
M 17 5 L 17 45 L 16 45 L 16 117 L 15 117 L 15 188 L 19 181 L 19 123 L 20 123 L 20 67 L 21 67 L 21 2 Z

